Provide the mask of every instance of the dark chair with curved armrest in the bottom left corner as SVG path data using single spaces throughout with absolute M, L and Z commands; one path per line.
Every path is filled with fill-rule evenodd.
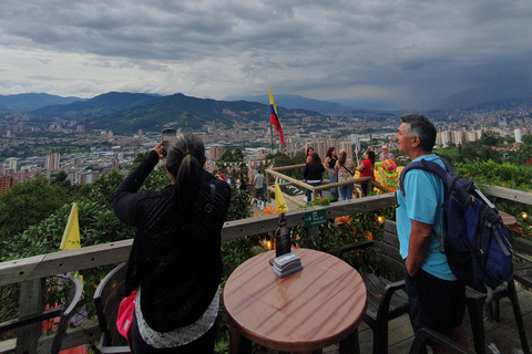
M 58 277 L 64 279 L 63 285 L 68 283 L 69 293 L 64 299 L 64 302 L 57 308 L 44 310 L 42 313 L 25 316 L 23 319 L 13 319 L 0 323 L 0 333 L 20 329 L 28 324 L 40 323 L 43 321 L 52 320 L 60 317 L 57 325 L 57 332 L 53 337 L 52 347 L 50 353 L 57 354 L 61 351 L 61 344 L 63 342 L 64 335 L 66 334 L 66 327 L 69 325 L 69 320 L 78 313 L 78 303 L 81 300 L 83 294 L 83 281 L 78 277 Z

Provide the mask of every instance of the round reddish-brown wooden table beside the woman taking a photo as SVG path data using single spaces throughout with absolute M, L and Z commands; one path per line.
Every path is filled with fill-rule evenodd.
M 231 274 L 224 288 L 231 353 L 250 351 L 249 341 L 301 353 L 339 342 L 340 353 L 358 352 L 357 327 L 367 300 L 360 274 L 324 252 L 293 252 L 304 269 L 286 278 L 272 271 L 275 251 L 247 260 Z

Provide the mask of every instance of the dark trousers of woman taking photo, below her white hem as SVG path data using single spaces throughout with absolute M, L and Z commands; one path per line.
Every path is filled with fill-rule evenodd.
M 217 323 L 214 323 L 207 333 L 186 345 L 158 350 L 144 343 L 136 324 L 136 315 L 133 314 L 133 323 L 131 324 L 131 352 L 133 354 L 212 354 L 214 353 L 214 337 L 216 334 L 216 327 Z

